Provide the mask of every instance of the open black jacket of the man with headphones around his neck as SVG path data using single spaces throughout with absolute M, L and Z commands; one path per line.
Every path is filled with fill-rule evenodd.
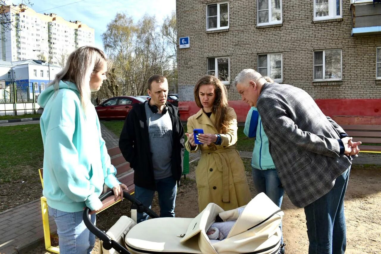
M 144 103 L 133 104 L 120 133 L 119 148 L 123 157 L 134 169 L 134 184 L 149 190 L 155 190 L 152 153 L 149 146 L 147 116 Z M 179 117 L 179 110 L 168 104 L 168 112 L 172 121 L 173 148 L 171 155 L 172 177 L 180 181 L 184 158 L 184 128 Z

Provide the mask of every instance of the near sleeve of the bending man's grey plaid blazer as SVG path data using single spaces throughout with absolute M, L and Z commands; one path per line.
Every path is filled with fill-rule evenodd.
M 272 132 L 279 133 L 284 142 L 299 146 L 312 153 L 337 158 L 340 154 L 339 142 L 335 138 L 327 138 L 298 128 L 298 125 L 288 117 L 286 110 L 274 98 L 262 97 L 257 108 L 263 125 Z M 274 144 L 275 145 L 275 144 Z M 277 144 L 281 145 L 281 144 Z

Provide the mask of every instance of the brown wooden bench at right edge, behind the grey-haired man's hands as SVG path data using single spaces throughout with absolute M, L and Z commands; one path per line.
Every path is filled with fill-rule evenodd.
M 375 145 L 361 145 L 360 152 L 381 153 L 381 125 L 340 125 L 354 141 Z

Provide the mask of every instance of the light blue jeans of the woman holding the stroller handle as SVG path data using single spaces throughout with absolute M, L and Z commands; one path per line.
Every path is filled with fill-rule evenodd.
M 83 222 L 83 211 L 63 212 L 48 206 L 48 213 L 54 218 L 57 225 L 60 253 L 91 254 L 95 244 L 95 235 L 86 228 Z M 96 215 L 89 216 L 95 225 Z

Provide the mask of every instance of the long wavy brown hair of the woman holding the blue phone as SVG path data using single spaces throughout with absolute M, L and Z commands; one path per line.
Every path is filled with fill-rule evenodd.
M 194 87 L 194 100 L 199 108 L 203 108 L 200 101 L 199 90 L 202 85 L 213 85 L 215 90 L 215 101 L 213 102 L 212 112 L 216 116 L 215 127 L 218 133 L 226 134 L 228 130 L 229 121 L 226 119 L 226 112 L 229 108 L 226 97 L 226 87 L 215 76 L 203 76 L 197 81 Z

